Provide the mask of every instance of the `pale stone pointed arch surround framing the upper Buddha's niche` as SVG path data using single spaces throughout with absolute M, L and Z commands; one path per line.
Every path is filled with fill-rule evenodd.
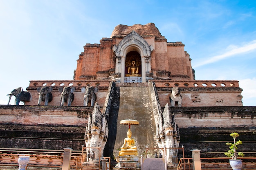
M 148 45 L 146 40 L 144 40 L 138 33 L 132 31 L 126 37 L 119 42 L 118 45 L 113 47 L 113 51 L 116 54 L 116 73 L 121 73 L 121 83 L 124 82 L 125 77 L 125 61 L 126 55 L 135 51 L 139 53 L 141 57 L 141 79 L 142 82 L 146 82 L 146 72 L 151 71 L 151 51 L 153 51 L 153 46 Z

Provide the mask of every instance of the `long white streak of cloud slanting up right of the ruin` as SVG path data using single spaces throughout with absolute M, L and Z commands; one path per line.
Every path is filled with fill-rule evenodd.
M 223 53 L 223 54 L 220 54 L 220 55 L 215 55 L 211 58 L 209 58 L 208 60 L 205 60 L 205 61 L 202 61 L 198 64 L 196 64 L 194 66 L 194 68 L 196 67 L 199 67 L 199 66 L 203 66 L 203 65 L 206 65 L 206 64 L 210 64 L 210 63 L 214 63 L 214 62 L 218 62 L 220 60 L 223 60 L 225 58 L 228 58 L 228 57 L 231 57 L 231 56 L 234 56 L 234 55 L 238 55 L 238 54 L 241 54 L 241 53 L 246 53 L 246 52 L 249 52 L 249 51 L 253 51 L 256 49 L 256 40 L 253 40 L 243 46 L 235 46 L 235 45 L 230 45 L 227 47 L 228 51 Z

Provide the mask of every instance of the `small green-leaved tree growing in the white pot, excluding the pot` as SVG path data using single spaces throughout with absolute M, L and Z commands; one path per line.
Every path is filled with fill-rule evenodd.
M 237 160 L 237 157 L 243 157 L 245 156 L 245 154 L 243 154 L 242 152 L 237 152 L 237 146 L 243 144 L 242 141 L 238 140 L 236 142 L 236 138 L 239 137 L 238 133 L 231 133 L 230 134 L 231 137 L 233 137 L 234 139 L 234 143 L 230 143 L 227 142 L 226 145 L 229 146 L 229 150 L 227 152 L 225 152 L 224 154 L 227 155 L 228 157 L 231 157 L 231 159 L 233 160 Z

